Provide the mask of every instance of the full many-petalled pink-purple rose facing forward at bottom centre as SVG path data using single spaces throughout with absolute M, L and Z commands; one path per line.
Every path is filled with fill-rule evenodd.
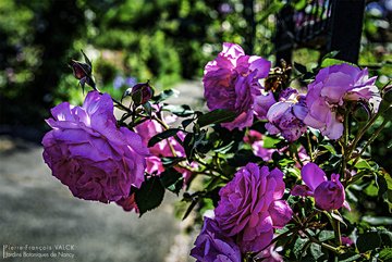
M 235 237 L 242 252 L 258 252 L 273 238 L 273 228 L 292 217 L 284 200 L 283 173 L 248 163 L 220 191 L 215 210 L 219 227 Z

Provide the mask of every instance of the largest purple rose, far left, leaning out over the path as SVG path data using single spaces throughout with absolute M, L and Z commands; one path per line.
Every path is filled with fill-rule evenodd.
M 51 113 L 44 159 L 75 197 L 118 201 L 140 187 L 148 149 L 137 134 L 117 127 L 109 95 L 90 91 L 83 107 L 63 102 Z

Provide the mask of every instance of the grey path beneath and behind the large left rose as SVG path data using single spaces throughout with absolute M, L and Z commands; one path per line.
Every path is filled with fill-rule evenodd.
M 182 91 L 176 102 L 199 103 L 198 83 L 175 88 Z M 40 145 L 0 136 L 0 245 L 3 255 L 24 255 L 0 261 L 193 261 L 194 240 L 172 213 L 174 195 L 167 192 L 163 204 L 142 219 L 117 204 L 83 201 L 51 176 L 41 152 Z M 28 251 L 35 247 L 46 250 Z M 42 258 L 27 258 L 37 253 Z

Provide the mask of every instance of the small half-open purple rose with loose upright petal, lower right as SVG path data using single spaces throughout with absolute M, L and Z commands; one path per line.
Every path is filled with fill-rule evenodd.
M 331 180 L 328 180 L 326 173 L 317 164 L 308 163 L 302 169 L 301 176 L 306 186 L 295 186 L 293 196 L 313 196 L 316 205 L 327 211 L 347 207 L 339 174 L 332 174 Z

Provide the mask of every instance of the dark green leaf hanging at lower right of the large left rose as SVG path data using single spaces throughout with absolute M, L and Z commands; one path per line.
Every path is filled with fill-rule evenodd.
M 158 176 L 152 176 L 142 184 L 135 192 L 135 201 L 140 216 L 159 207 L 163 200 L 164 187 Z

